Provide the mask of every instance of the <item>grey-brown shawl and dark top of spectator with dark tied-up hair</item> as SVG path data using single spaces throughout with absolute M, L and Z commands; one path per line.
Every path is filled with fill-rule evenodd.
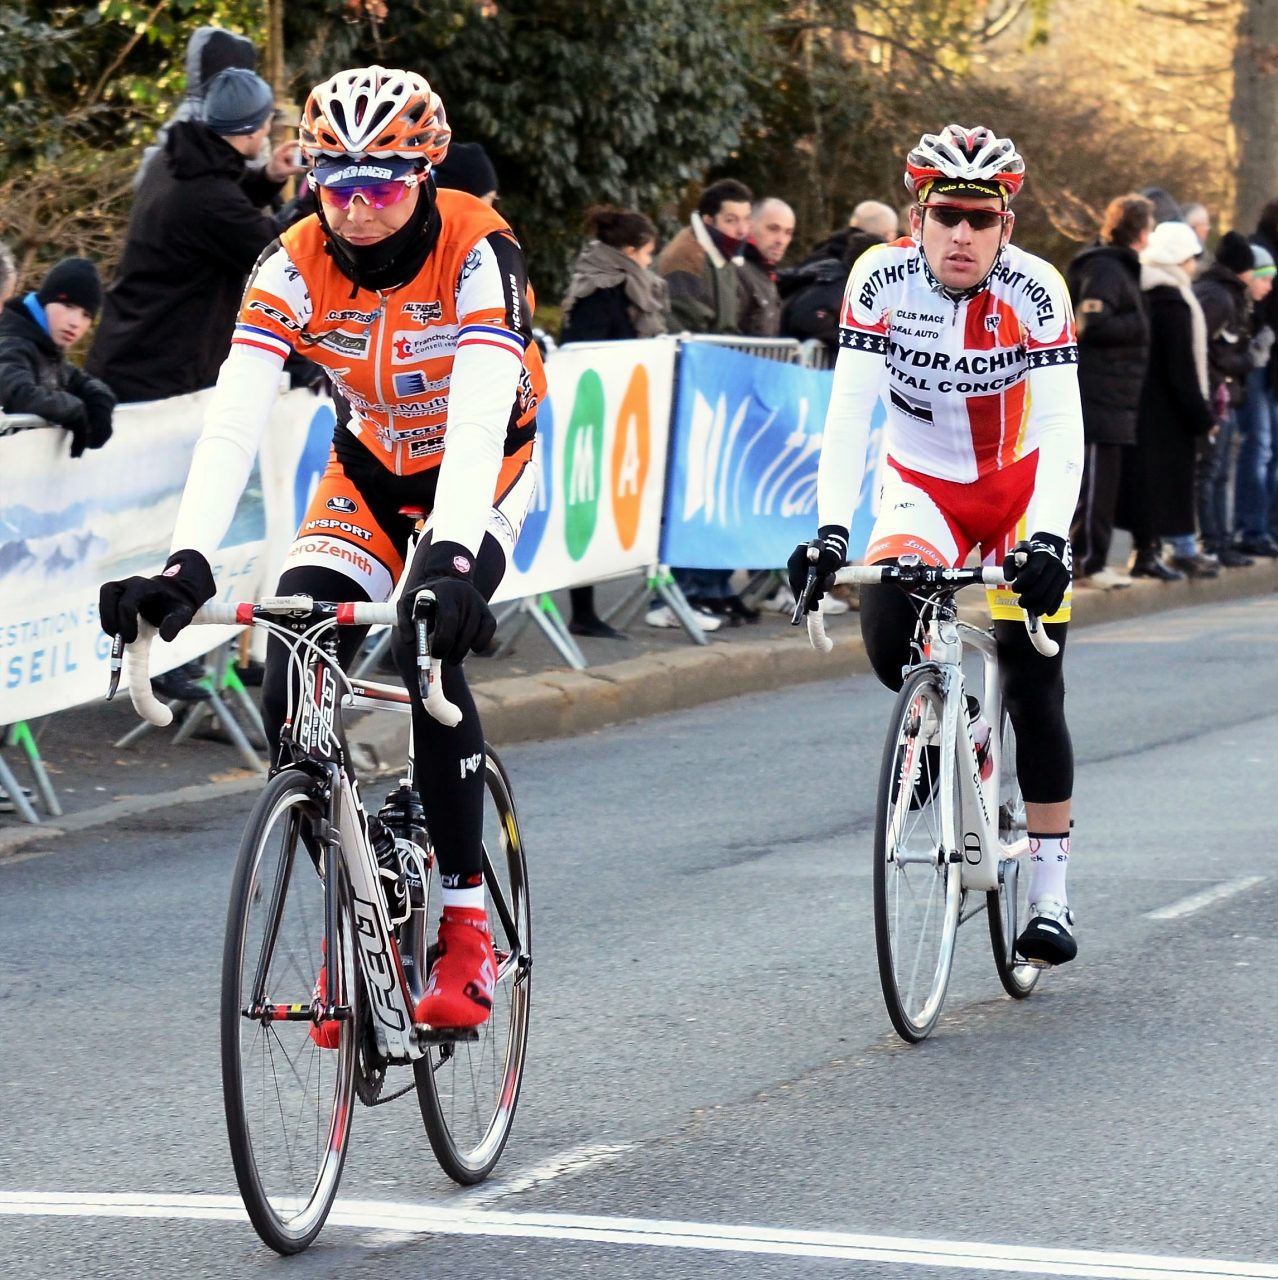
M 659 275 L 620 250 L 592 241 L 572 265 L 560 344 L 654 338 L 668 328 L 668 306 Z

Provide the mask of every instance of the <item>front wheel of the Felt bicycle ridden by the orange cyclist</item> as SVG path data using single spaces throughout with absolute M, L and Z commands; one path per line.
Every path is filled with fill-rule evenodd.
M 312 778 L 286 769 L 266 783 L 239 846 L 222 964 L 231 1158 L 254 1228 L 279 1253 L 297 1253 L 319 1234 L 351 1130 L 360 1010 L 344 877 L 341 972 L 325 984 L 351 1016 L 337 1024 L 334 1048 L 310 1034 L 325 938 L 320 819 Z

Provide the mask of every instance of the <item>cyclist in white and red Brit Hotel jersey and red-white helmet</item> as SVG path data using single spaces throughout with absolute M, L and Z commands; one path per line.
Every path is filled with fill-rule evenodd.
M 1062 964 L 1077 954 L 1065 896 L 1073 749 L 1062 657 L 1037 654 L 1023 617 L 1039 614 L 1064 649 L 1082 411 L 1069 293 L 1050 264 L 1010 243 L 1009 205 L 1023 179 L 1015 147 L 986 128 L 950 124 L 909 152 L 910 236 L 866 252 L 844 294 L 817 477 L 817 571 L 823 579 L 846 558 L 882 399 L 886 471 L 866 563 L 913 554 L 959 566 L 978 547 L 1013 579 L 991 609 L 1032 849 L 1031 919 L 1017 947 Z M 1026 540 L 1017 567 L 1008 557 Z M 797 596 L 807 552 L 790 558 Z M 875 672 L 900 689 L 916 608 L 891 586 L 866 588 L 861 600 Z

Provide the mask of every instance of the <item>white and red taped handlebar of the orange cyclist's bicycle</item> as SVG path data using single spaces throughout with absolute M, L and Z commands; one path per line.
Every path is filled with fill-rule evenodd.
M 434 604 L 432 591 L 419 591 L 419 604 Z M 323 608 L 323 605 L 320 605 Z M 369 602 L 347 602 L 330 605 L 333 618 L 338 626 L 394 626 L 394 604 L 373 604 Z M 204 626 L 252 626 L 257 621 L 268 620 L 279 614 L 284 617 L 306 617 L 314 613 L 316 602 L 309 595 L 275 595 L 261 600 L 248 600 L 239 604 L 222 604 L 211 602 L 205 604 L 191 620 L 193 625 Z M 426 644 L 426 618 L 417 620 L 417 671 L 421 681 L 421 698 L 426 713 L 447 728 L 455 728 L 461 723 L 461 708 L 444 696 L 443 686 L 435 675 L 435 668 L 430 662 L 429 646 Z M 120 636 L 115 636 L 111 645 L 111 678 L 108 700 L 115 696 L 119 686 L 120 668 L 123 658 L 128 654 L 128 691 L 133 703 L 133 709 L 147 723 L 156 728 L 166 728 L 173 723 L 173 710 L 155 696 L 151 689 L 151 644 L 156 636 L 155 627 L 143 618 L 138 618 L 137 640 L 125 645 Z

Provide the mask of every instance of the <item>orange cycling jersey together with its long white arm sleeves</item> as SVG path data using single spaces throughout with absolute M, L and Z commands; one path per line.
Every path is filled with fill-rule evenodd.
M 437 198 L 430 252 L 394 289 L 342 274 L 314 215 L 263 253 L 205 413 L 191 463 L 202 483 L 183 493 L 174 549 L 218 548 L 297 351 L 341 393 L 338 452 L 366 451 L 374 476 L 421 477 L 401 500 L 429 506 L 437 539 L 478 553 L 503 458 L 535 438 L 546 372 L 510 228 L 473 196 Z

